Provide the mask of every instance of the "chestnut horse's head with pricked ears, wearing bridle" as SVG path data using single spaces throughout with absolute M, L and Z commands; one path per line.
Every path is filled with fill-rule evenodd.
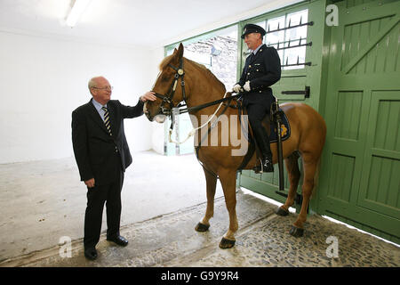
M 150 121 L 164 123 L 166 116 L 171 115 L 172 108 L 186 100 L 183 80 L 183 45 L 175 49 L 172 55 L 164 58 L 160 64 L 160 73 L 153 86 L 156 101 L 146 102 L 144 113 Z

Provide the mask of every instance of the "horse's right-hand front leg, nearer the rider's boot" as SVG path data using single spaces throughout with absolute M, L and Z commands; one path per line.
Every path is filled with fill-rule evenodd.
M 220 240 L 220 248 L 232 248 L 236 241 L 235 233 L 239 228 L 236 216 L 236 171 L 222 171 L 220 173 L 220 183 L 224 191 L 225 203 L 229 214 L 229 229 Z

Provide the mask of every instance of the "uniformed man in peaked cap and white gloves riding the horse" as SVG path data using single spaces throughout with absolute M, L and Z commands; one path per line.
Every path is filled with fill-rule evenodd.
M 232 88 L 236 93 L 245 91 L 243 103 L 262 155 L 262 167 L 256 167 L 256 173 L 274 171 L 268 134 L 262 126 L 262 119 L 269 113 L 272 102 L 276 101 L 269 86 L 281 78 L 279 54 L 274 47 L 262 45 L 265 34 L 265 29 L 260 26 L 244 26 L 242 38 L 252 53 L 246 58 L 239 82 Z

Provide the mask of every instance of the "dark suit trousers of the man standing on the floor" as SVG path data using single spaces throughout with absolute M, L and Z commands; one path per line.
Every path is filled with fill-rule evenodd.
M 104 203 L 107 208 L 107 238 L 119 235 L 121 219 L 121 191 L 124 183 L 124 171 L 121 168 L 121 159 L 116 153 L 115 179 L 110 183 L 88 188 L 87 206 L 84 215 L 84 248 L 94 248 L 100 240 L 101 223 Z M 109 163 L 109 162 L 108 162 Z

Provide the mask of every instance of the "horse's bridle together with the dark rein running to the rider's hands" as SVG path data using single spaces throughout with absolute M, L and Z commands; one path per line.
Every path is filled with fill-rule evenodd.
M 201 110 L 201 109 L 204 109 L 206 107 L 210 107 L 212 105 L 216 105 L 216 104 L 218 104 L 220 102 L 230 101 L 230 100 L 232 100 L 232 99 L 234 99 L 236 97 L 242 96 L 242 94 L 236 94 L 236 95 L 233 95 L 233 96 L 222 98 L 220 100 L 207 102 L 207 103 L 204 103 L 204 104 L 201 104 L 201 105 L 198 105 L 198 106 L 181 109 L 181 107 L 185 107 L 187 105 L 186 104 L 187 98 L 186 98 L 186 91 L 185 91 L 185 81 L 184 81 L 184 78 L 183 78 L 185 76 L 185 71 L 183 70 L 183 58 L 180 59 L 179 68 L 173 66 L 171 63 L 169 63 L 168 66 L 171 67 L 172 69 L 174 69 L 176 71 L 176 73 L 175 73 L 175 75 L 173 77 L 172 84 L 171 84 L 170 89 L 168 90 L 167 94 L 158 94 L 158 93 L 155 92 L 156 97 L 163 101 L 163 102 L 161 102 L 160 110 L 159 110 L 158 114 L 162 114 L 162 115 L 165 115 L 165 116 L 172 116 L 172 108 L 179 108 L 180 109 L 180 112 L 179 112 L 180 114 L 186 113 L 186 112 L 189 112 L 189 111 Z M 176 87 L 178 85 L 178 79 L 180 77 L 181 77 L 180 86 L 182 87 L 182 99 L 183 99 L 183 102 L 185 102 L 185 104 L 179 103 L 179 104 L 177 104 L 175 106 L 174 103 L 173 103 L 173 95 L 175 94 Z M 169 104 L 170 108 L 166 109 L 164 107 L 164 104 Z

